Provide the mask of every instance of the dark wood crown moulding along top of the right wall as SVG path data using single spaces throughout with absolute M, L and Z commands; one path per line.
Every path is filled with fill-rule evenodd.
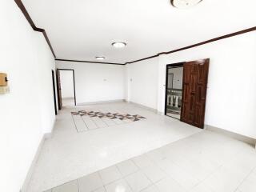
M 141 62 L 141 61 L 149 59 L 149 58 L 158 57 L 161 54 L 172 54 L 172 53 L 175 53 L 175 52 L 178 52 L 178 51 L 181 51 L 181 50 L 188 50 L 188 49 L 193 48 L 195 46 L 202 46 L 202 45 L 210 43 L 210 42 L 216 42 L 216 41 L 221 40 L 223 38 L 230 38 L 230 37 L 234 37 L 234 36 L 239 35 L 239 34 L 246 34 L 246 33 L 249 33 L 251 31 L 254 31 L 254 30 L 256 30 L 256 26 L 248 28 L 246 30 L 239 30 L 239 31 L 234 32 L 232 34 L 222 35 L 222 36 L 220 36 L 218 38 L 211 38 L 210 40 L 207 40 L 207 41 L 204 41 L 204 42 L 198 42 L 198 43 L 196 43 L 194 45 L 185 46 L 185 47 L 182 47 L 182 48 L 177 49 L 177 50 L 170 50 L 170 51 L 167 51 L 167 52 L 162 52 L 162 53 L 159 53 L 159 54 L 154 54 L 153 56 L 150 56 L 150 57 L 147 57 L 147 58 L 141 58 L 141 59 L 135 60 L 133 62 L 126 62 L 126 64 L 130 64 L 130 63 L 134 63 L 134 62 Z

